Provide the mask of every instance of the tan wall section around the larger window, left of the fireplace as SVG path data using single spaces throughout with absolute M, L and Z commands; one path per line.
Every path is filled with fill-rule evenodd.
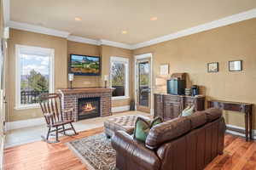
M 8 122 L 41 117 L 40 109 L 15 110 L 15 44 L 55 48 L 55 89 L 67 88 L 67 39 L 29 31 L 10 30 L 8 40 Z

